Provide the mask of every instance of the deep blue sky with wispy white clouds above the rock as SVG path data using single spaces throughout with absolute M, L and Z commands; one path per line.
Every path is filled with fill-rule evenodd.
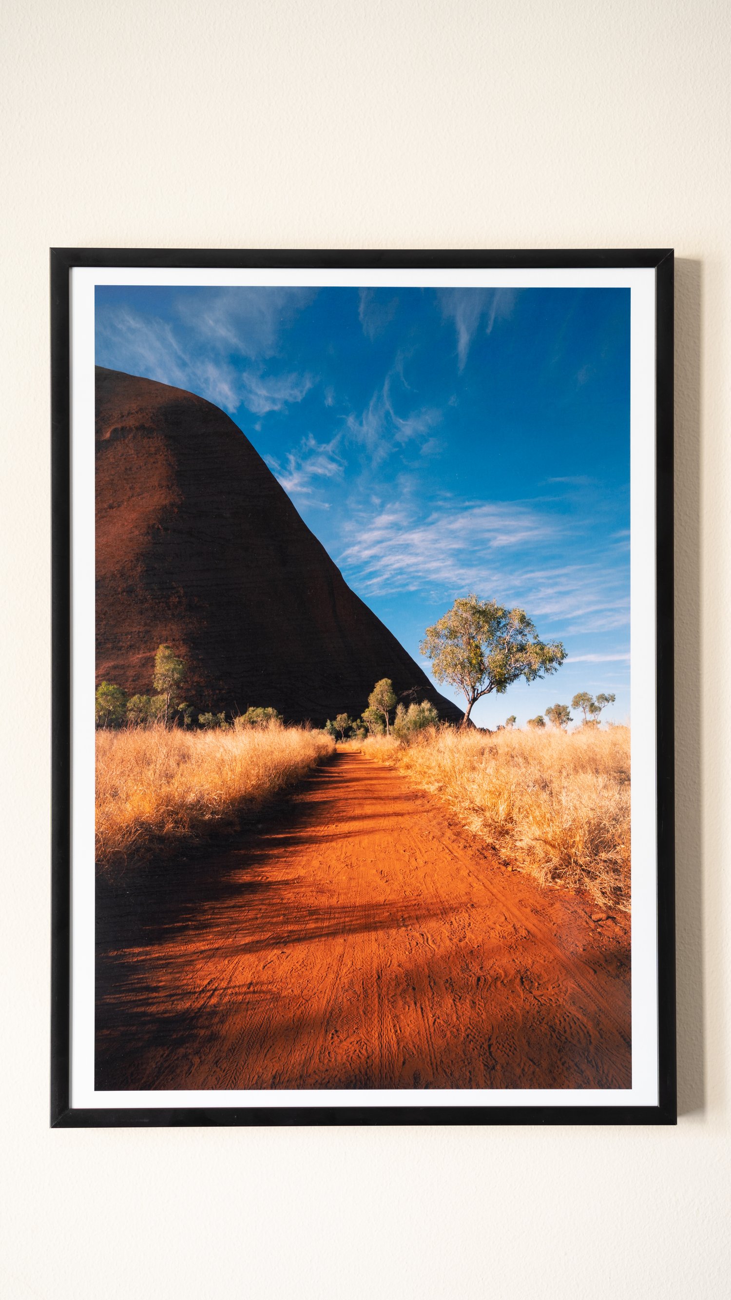
M 628 290 L 99 286 L 96 360 L 222 407 L 427 672 L 469 592 L 562 640 L 480 725 L 578 690 L 628 720 Z

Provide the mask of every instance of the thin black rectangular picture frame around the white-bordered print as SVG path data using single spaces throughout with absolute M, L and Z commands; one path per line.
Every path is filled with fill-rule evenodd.
M 71 994 L 71 497 L 70 273 L 79 266 L 145 268 L 650 268 L 656 300 L 656 629 L 657 629 L 657 941 L 658 1105 L 317 1106 L 73 1109 Z M 673 663 L 673 347 L 674 255 L 644 250 L 323 251 L 51 250 L 52 454 L 52 1015 L 51 1126 L 216 1124 L 673 1124 L 675 1086 L 674 663 Z

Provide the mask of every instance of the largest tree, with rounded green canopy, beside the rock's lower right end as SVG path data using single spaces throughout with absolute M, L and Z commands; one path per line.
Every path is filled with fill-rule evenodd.
M 483 696 L 501 696 L 523 677 L 535 681 L 556 672 L 566 658 L 560 641 L 544 642 L 525 610 L 508 610 L 496 601 L 460 597 L 451 610 L 426 629 L 419 650 L 432 662 L 438 681 L 457 686 L 467 707 Z

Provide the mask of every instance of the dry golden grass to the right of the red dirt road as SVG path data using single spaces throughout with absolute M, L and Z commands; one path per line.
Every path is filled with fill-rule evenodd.
M 630 907 L 630 729 L 425 732 L 364 742 L 439 794 L 470 831 L 543 884 Z

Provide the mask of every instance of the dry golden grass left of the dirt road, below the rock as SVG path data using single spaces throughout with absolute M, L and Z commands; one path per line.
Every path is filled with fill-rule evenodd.
M 197 835 L 299 781 L 331 754 L 323 732 L 149 731 L 96 733 L 96 861 L 143 857 L 152 844 Z

